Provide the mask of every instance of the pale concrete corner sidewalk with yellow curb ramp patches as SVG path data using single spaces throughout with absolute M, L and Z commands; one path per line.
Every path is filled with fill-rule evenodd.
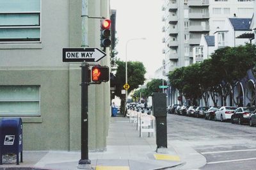
M 156 138 L 139 137 L 136 125 L 128 118 L 111 118 L 107 150 L 89 152 L 93 169 L 195 169 L 204 166 L 205 158 L 186 143 L 168 141 L 167 153 L 156 153 Z M 77 169 L 80 152 L 24 151 L 23 163 L 4 164 L 0 169 Z M 8 168 L 9 167 L 9 168 Z

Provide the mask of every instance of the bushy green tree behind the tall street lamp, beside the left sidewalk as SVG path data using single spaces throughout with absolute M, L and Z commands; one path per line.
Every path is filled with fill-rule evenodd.
M 116 89 L 114 94 L 117 97 L 120 97 L 122 112 L 124 112 L 125 95 L 122 95 L 121 91 L 124 89 L 123 86 L 125 84 L 125 62 L 118 60 L 116 61 L 116 65 Z M 130 93 L 133 89 L 138 88 L 139 85 L 143 84 L 145 81 L 145 73 L 146 69 L 143 63 L 139 61 L 127 62 L 127 82 L 130 86 L 127 91 L 128 93 Z

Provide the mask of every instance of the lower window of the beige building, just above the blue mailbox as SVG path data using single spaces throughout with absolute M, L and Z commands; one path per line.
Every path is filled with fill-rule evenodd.
M 0 86 L 0 116 L 40 116 L 40 86 Z

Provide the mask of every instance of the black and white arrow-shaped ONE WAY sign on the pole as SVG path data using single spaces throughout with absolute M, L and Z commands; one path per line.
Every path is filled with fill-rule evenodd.
M 64 48 L 62 52 L 63 62 L 97 62 L 106 56 L 98 48 Z

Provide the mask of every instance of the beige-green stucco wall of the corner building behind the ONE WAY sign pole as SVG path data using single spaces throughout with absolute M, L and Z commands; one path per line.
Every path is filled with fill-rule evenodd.
M 22 118 L 24 150 L 80 150 L 81 63 L 63 63 L 62 48 L 81 47 L 81 3 L 43 0 L 42 43 L 0 44 L 0 85 L 40 86 L 41 116 Z M 89 1 L 89 15 L 106 13 L 108 1 Z M 90 47 L 100 48 L 99 19 L 89 20 L 88 35 Z M 109 61 L 108 55 L 100 64 Z M 88 98 L 89 150 L 105 150 L 109 82 L 90 85 Z

